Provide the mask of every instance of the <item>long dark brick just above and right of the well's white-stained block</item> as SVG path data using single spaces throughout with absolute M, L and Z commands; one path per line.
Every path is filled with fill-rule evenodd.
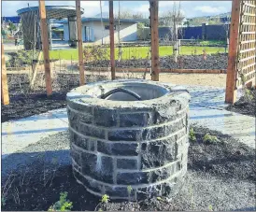
M 97 150 L 107 155 L 136 156 L 138 155 L 138 144 L 97 141 Z

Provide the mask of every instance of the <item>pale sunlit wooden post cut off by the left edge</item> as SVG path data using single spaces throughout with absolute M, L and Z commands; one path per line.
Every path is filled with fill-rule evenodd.
M 1 43 L 1 49 L 2 49 L 2 57 L 1 57 L 1 63 L 2 63 L 2 84 L 1 84 L 1 96 L 2 96 L 2 103 L 3 105 L 9 104 L 9 93 L 8 93 L 8 84 L 7 84 L 7 67 L 6 67 L 6 59 L 5 59 L 5 53 L 4 53 L 4 44 L 3 39 Z

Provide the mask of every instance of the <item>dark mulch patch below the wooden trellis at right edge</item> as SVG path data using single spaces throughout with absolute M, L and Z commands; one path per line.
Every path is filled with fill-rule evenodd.
M 226 109 L 234 111 L 236 113 L 256 117 L 256 90 L 249 90 L 251 93 L 251 99 L 246 98 L 244 95 L 235 102 L 234 105 L 227 106 Z

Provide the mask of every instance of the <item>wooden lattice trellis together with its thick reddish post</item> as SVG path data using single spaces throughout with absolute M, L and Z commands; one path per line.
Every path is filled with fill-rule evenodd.
M 230 30 L 226 102 L 233 104 L 237 89 L 255 85 L 256 0 L 233 0 Z

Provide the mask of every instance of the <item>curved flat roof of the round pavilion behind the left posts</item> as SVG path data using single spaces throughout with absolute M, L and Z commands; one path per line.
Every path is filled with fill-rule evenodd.
M 17 10 L 19 16 L 22 13 L 38 11 L 38 7 L 24 7 Z M 47 19 L 64 19 L 70 16 L 76 16 L 76 7 L 73 6 L 46 6 Z M 81 8 L 83 14 L 83 8 Z

